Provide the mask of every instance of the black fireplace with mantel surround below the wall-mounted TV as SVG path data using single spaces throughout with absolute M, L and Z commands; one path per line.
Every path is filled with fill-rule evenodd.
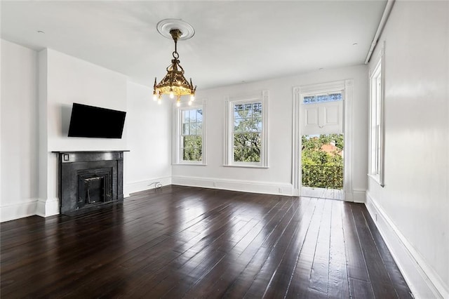
M 58 154 L 60 213 L 76 215 L 123 201 L 123 151 Z

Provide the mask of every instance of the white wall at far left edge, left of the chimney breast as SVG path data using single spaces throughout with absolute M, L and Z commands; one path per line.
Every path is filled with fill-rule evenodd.
M 1 40 L 1 221 L 34 215 L 38 197 L 37 53 Z

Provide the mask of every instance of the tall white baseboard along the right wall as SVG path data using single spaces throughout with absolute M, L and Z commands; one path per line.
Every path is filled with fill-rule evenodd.
M 366 208 L 415 298 L 449 298 L 448 286 L 401 234 L 369 192 L 366 192 Z

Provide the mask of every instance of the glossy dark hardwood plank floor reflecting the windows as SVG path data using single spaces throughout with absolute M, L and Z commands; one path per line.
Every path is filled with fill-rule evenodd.
M 363 204 L 168 186 L 1 224 L 1 298 L 412 298 Z

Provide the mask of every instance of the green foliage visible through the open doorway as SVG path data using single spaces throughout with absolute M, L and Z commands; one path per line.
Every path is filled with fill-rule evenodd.
M 342 134 L 302 136 L 302 186 L 343 188 Z

